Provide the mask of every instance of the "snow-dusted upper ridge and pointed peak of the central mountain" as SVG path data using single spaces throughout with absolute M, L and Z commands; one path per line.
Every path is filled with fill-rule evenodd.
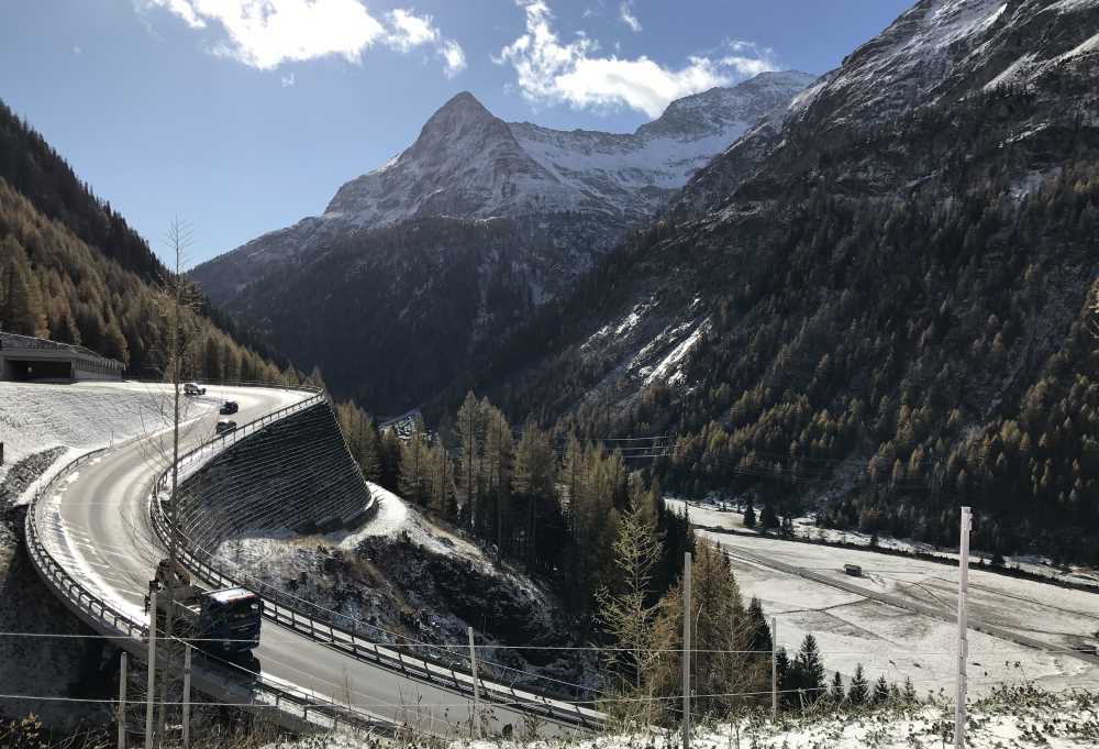
M 535 297 L 544 299 L 545 289 L 567 286 L 713 156 L 761 118 L 785 110 L 812 80 L 804 73 L 764 73 L 673 101 L 633 133 L 508 123 L 464 91 L 424 123 L 408 148 L 341 186 L 321 216 L 267 232 L 203 263 L 192 276 L 214 301 L 230 305 L 276 266 L 315 260 L 364 230 L 442 217 L 564 221 L 568 225 L 556 233 L 563 242 L 567 236 L 569 246 L 559 257 L 537 261 L 559 273 L 532 279 Z

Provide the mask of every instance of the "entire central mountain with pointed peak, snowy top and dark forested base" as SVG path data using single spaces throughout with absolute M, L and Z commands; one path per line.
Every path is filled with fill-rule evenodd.
M 191 275 L 296 362 L 319 365 L 334 392 L 398 414 L 467 378 L 471 359 L 571 291 L 691 174 L 812 80 L 762 74 L 675 101 L 629 134 L 508 123 L 459 93 L 322 216 Z

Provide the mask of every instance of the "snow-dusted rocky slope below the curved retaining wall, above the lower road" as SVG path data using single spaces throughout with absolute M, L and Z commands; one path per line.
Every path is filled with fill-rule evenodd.
M 217 553 L 238 572 L 337 613 L 340 626 L 379 642 L 410 637 L 425 643 L 414 651 L 449 660 L 452 646 L 465 642 L 473 626 L 486 669 L 498 681 L 566 693 L 560 682 L 593 683 L 589 653 L 548 660 L 537 653 L 532 664 L 530 653 L 512 649 L 575 645 L 552 595 L 392 492 L 376 484 L 370 492 L 378 509 L 359 529 L 231 539 Z

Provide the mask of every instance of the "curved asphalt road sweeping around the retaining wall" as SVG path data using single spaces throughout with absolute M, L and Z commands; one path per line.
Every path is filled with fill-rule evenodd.
M 293 390 L 210 387 L 207 396 L 188 399 L 191 420 L 180 452 L 213 436 L 217 407 L 224 399 L 240 403 L 241 410 L 232 418 L 245 423 L 306 397 Z M 81 466 L 37 505 L 37 528 L 57 561 L 138 620 L 146 618 L 148 580 L 166 555 L 149 528 L 147 503 L 153 478 L 167 465 L 164 456 L 170 456 L 170 431 L 118 445 Z M 265 676 L 324 694 L 359 712 L 435 735 L 468 731 L 471 700 L 465 695 L 358 661 L 270 620 L 264 623 L 255 656 Z M 511 725 L 518 735 L 531 727 L 523 714 L 506 707 L 482 708 L 482 713 L 487 714 L 482 725 L 491 733 Z M 535 730 L 562 736 L 579 729 L 539 722 Z

